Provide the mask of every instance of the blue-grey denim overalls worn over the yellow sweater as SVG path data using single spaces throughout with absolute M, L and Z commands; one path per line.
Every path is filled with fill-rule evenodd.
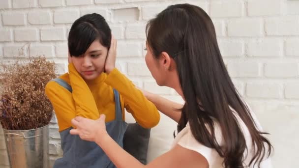
M 72 88 L 60 78 L 53 79 L 70 92 Z M 120 95 L 115 89 L 115 120 L 106 123 L 106 130 L 113 140 L 123 147 L 123 135 L 127 123 L 122 120 Z M 72 127 L 60 132 L 63 157 L 57 159 L 54 168 L 116 168 L 105 152 L 95 143 L 81 140 L 78 135 L 71 135 Z

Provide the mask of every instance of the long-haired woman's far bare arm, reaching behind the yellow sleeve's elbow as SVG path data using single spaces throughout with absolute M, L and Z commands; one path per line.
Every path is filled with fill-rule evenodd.
M 181 108 L 183 107 L 182 104 L 170 101 L 162 96 L 153 93 L 147 93 L 146 97 L 156 106 L 158 111 L 164 113 L 176 122 L 179 122 Z

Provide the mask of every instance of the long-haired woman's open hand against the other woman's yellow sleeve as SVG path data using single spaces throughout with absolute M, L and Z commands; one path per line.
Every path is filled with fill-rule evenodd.
M 107 134 L 105 118 L 105 114 L 101 114 L 97 120 L 77 116 L 71 120 L 75 129 L 71 129 L 70 134 L 79 135 L 82 140 L 97 141 Z

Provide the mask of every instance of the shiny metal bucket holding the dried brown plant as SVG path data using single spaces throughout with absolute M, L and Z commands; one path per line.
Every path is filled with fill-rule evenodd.
M 13 131 L 3 129 L 10 168 L 49 167 L 49 127 Z

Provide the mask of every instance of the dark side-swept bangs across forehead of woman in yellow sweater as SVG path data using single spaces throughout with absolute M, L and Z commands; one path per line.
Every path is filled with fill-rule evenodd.
M 70 56 L 81 56 L 90 47 L 94 40 L 99 40 L 100 33 L 90 23 L 83 22 L 71 28 L 68 34 L 68 49 Z

